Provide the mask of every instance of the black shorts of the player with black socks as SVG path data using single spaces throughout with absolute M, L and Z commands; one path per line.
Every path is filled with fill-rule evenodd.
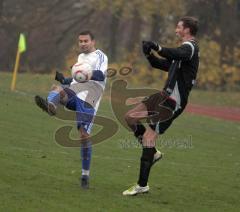
M 145 98 L 142 103 L 147 107 L 147 123 L 159 134 L 163 134 L 183 111 L 182 109 L 175 111 L 176 101 L 162 92 Z

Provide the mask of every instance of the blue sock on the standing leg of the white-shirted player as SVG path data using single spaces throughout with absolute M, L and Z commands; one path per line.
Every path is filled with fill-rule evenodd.
M 92 157 L 92 143 L 87 140 L 81 144 L 82 177 L 89 177 Z

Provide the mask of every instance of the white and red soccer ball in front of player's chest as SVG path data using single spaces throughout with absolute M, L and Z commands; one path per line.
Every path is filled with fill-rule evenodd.
M 72 77 L 77 82 L 87 82 L 92 77 L 92 67 L 88 63 L 76 63 L 72 67 Z

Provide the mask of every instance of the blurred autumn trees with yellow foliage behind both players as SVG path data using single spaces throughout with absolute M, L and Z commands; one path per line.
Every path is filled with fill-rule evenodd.
M 91 29 L 110 67 L 133 68 L 132 83 L 158 85 L 166 74 L 152 70 L 141 52 L 142 40 L 178 45 L 179 17 L 199 19 L 201 51 L 197 86 L 230 90 L 240 87 L 239 0 L 68 0 L 0 1 L 0 70 L 12 71 L 19 33 L 27 37 L 20 72 L 68 73 L 76 61 L 77 36 Z

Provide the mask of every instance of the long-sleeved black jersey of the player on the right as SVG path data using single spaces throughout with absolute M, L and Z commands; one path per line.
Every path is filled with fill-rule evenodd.
M 185 108 L 189 92 L 195 83 L 199 66 L 199 47 L 194 40 L 183 42 L 178 48 L 162 47 L 158 54 L 163 58 L 158 58 L 151 54 L 148 60 L 152 67 L 168 72 L 168 79 L 164 90 L 173 92 L 177 85 L 181 107 Z

